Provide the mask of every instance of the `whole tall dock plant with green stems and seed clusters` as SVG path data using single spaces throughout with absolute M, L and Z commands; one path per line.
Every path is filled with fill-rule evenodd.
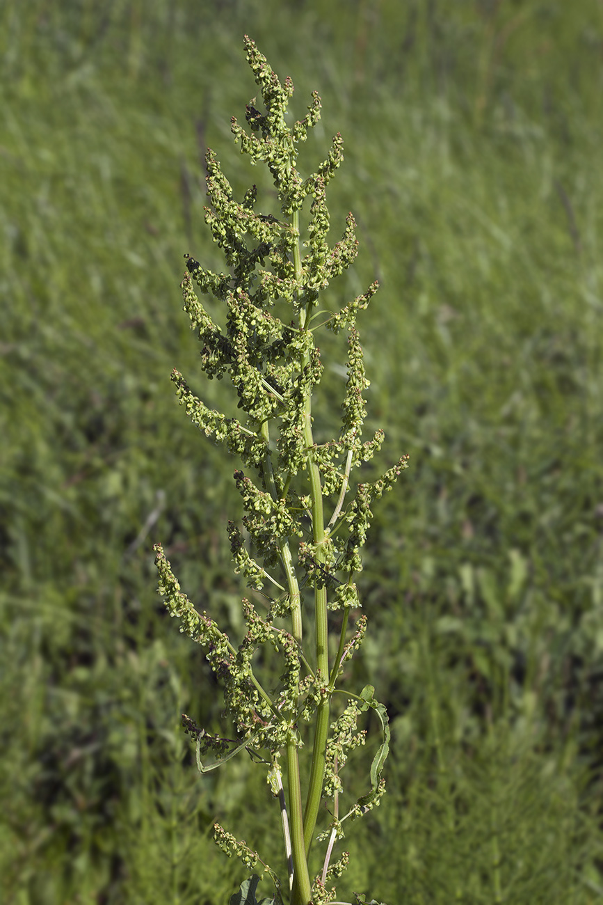
M 241 154 L 268 167 L 278 209 L 268 210 L 274 193 L 260 201 L 256 186 L 235 200 L 218 158 L 208 150 L 205 223 L 223 252 L 225 269 L 210 271 L 186 254 L 182 282 L 184 310 L 201 343 L 201 368 L 210 380 L 230 380 L 240 417 L 212 410 L 182 374 L 172 374 L 193 424 L 237 459 L 234 481 L 242 517 L 229 521 L 227 532 L 234 571 L 250 587 L 242 600 L 242 641 L 233 643 L 221 630 L 211 603 L 207 611 L 195 608 L 159 544 L 155 562 L 159 593 L 181 632 L 202 646 L 234 727 L 233 738 L 212 735 L 183 715 L 199 770 L 205 774 L 235 755 L 251 757 L 259 782 L 268 781 L 281 812 L 284 857 L 277 868 L 251 847 L 260 839 L 248 844 L 215 824 L 216 843 L 250 871 L 231 903 L 254 905 L 259 879 L 267 875 L 274 887 L 262 905 L 327 905 L 337 900 L 335 884 L 348 862 L 340 851 L 344 824 L 379 805 L 385 790 L 387 713 L 371 685 L 348 687 L 346 664 L 366 632 L 356 581 L 372 505 L 391 490 L 407 457 L 378 480 L 354 478 L 380 450 L 384 434 L 378 430 L 363 439 L 369 381 L 356 326 L 378 284 L 339 310 L 327 303 L 331 282 L 352 265 L 358 249 L 353 214 L 345 218 L 339 241 L 328 239 L 326 190 L 344 159 L 343 140 L 337 133 L 316 172 L 302 176 L 298 149 L 320 118 L 321 100 L 313 92 L 306 116 L 287 125 L 293 82 L 279 81 L 250 38 L 244 47 L 261 99 L 247 105 L 247 128 L 233 118 L 231 130 Z M 207 308 L 195 285 L 212 297 Z M 316 439 L 313 405 L 324 367 L 317 341 L 325 330 L 347 337 L 347 380 L 334 436 Z M 256 655 L 262 646 L 280 658 L 276 689 L 260 671 L 269 660 Z M 363 715 L 370 710 L 382 736 L 367 763 L 366 784 L 353 790 L 345 810 L 344 765 L 363 745 Z M 307 764 L 300 770 L 303 758 Z M 330 824 L 319 833 L 321 801 Z M 317 845 L 321 869 L 313 877 L 308 858 Z M 366 901 L 363 895 L 356 899 Z

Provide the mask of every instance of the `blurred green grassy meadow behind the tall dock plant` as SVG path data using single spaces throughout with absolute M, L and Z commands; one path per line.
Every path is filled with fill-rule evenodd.
M 411 457 L 375 507 L 350 676 L 391 712 L 390 794 L 340 894 L 603 900 L 600 0 L 0 6 L 0 898 L 220 905 L 244 872 L 215 819 L 282 871 L 259 774 L 193 767 L 179 714 L 217 730 L 220 690 L 151 553 L 237 637 L 234 463 L 169 373 L 230 405 L 178 283 L 184 252 L 220 267 L 208 145 L 271 197 L 231 144 L 243 33 L 297 118 L 323 98 L 306 172 L 344 135 L 334 237 L 352 209 L 362 247 L 330 298 L 382 282 L 359 324 L 375 468 Z M 318 433 L 344 356 L 325 343 Z

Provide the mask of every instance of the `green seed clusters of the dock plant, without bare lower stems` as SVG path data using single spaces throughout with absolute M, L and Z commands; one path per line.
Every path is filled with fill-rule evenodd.
M 235 572 L 244 576 L 250 588 L 258 591 L 269 585 L 277 589 L 268 613 L 260 615 L 250 600 L 243 599 L 246 632 L 235 648 L 208 614 L 195 610 L 181 591 L 163 549 L 160 545 L 155 549 L 159 592 L 165 605 L 179 618 L 181 631 L 203 646 L 212 669 L 223 680 L 226 712 L 238 733 L 235 746 L 248 740 L 250 752 L 274 763 L 292 740 L 301 745 L 300 724 L 312 719 L 321 701 L 333 695 L 335 682 L 360 647 L 366 630 L 363 615 L 356 619 L 351 636 L 346 637 L 344 627 L 337 657 L 329 666 L 331 674 L 326 675 L 324 666 L 322 670 L 318 663 L 312 666 L 306 656 L 295 619 L 289 633 L 282 628 L 282 618 L 300 611 L 305 594 L 325 593 L 328 609 L 343 613 L 347 625 L 350 611 L 360 606 L 353 578 L 363 568 L 361 551 L 372 519 L 372 501 L 391 490 L 408 462 L 402 456 L 379 480 L 358 483 L 351 490 L 353 471 L 372 459 L 384 437 L 378 430 L 363 441 L 367 415 L 363 394 L 369 381 L 356 327 L 356 319 L 368 307 L 378 283 L 373 282 L 341 310 L 321 309 L 325 290 L 352 265 L 358 251 L 352 214 L 345 218 L 341 239 L 333 245 L 328 241 L 326 189 L 344 159 L 343 140 L 337 133 L 323 163 L 302 178 L 297 170 L 298 146 L 320 119 L 320 98 L 314 92 L 306 117 L 289 128 L 286 114 L 294 90 L 292 81 L 287 78 L 281 83 L 249 38 L 245 38 L 245 48 L 262 103 L 253 98 L 247 105 L 245 119 L 250 131 L 234 118 L 231 130 L 241 154 L 250 157 L 253 165 L 269 168 L 278 197 L 278 217 L 258 210 L 255 185 L 237 201 L 220 161 L 208 150 L 209 204 L 204 218 L 223 253 L 225 269 L 214 273 L 186 254 L 181 284 L 184 311 L 201 347 L 201 368 L 209 379 L 230 380 L 240 416 L 210 409 L 176 370 L 172 380 L 193 424 L 240 461 L 234 481 L 243 514 L 239 523 L 228 523 L 231 554 Z M 298 214 L 310 198 L 302 243 Z M 212 297 L 215 319 L 197 297 L 194 284 L 204 296 Z M 318 312 L 320 318 L 316 318 Z M 313 326 L 319 322 L 334 334 L 347 332 L 347 380 L 338 433 L 317 444 L 312 434 L 311 400 L 323 376 L 316 345 L 319 327 Z M 333 511 L 328 527 L 322 520 L 326 506 Z M 262 644 L 282 657 L 280 687 L 271 693 L 263 689 L 254 672 L 254 653 Z M 350 695 L 350 703 L 331 725 L 325 751 L 323 791 L 325 797 L 334 798 L 343 791 L 340 773 L 349 753 L 363 744 L 364 732 L 355 728 L 357 719 L 369 707 L 378 712 L 385 742 L 379 762 L 378 758 L 373 761 L 372 791 L 358 800 L 351 815 L 378 804 L 389 738 L 382 705 L 373 700 L 372 690 L 364 692 L 360 698 Z M 227 757 L 228 740 L 211 736 L 195 727 L 190 718 L 186 720 L 187 729 L 203 742 L 203 753 L 209 750 L 218 759 Z M 255 867 L 259 856 L 246 843 L 219 826 L 216 840 L 227 853 L 238 854 L 248 867 Z M 325 872 L 325 879 L 337 877 L 346 864 L 344 854 Z M 334 895 L 334 891 L 325 891 L 320 878 L 313 889 L 316 903 Z

